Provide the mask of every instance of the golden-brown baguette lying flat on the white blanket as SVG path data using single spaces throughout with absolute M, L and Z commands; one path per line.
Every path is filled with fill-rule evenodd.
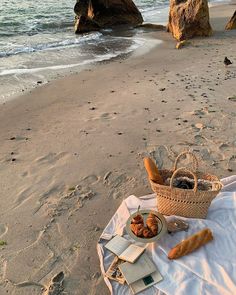
M 186 240 L 183 240 L 181 243 L 177 244 L 172 248 L 168 253 L 169 259 L 177 259 L 186 254 L 189 254 L 199 247 L 205 245 L 206 243 L 213 240 L 212 232 L 209 228 L 205 228 L 196 234 L 190 236 Z

